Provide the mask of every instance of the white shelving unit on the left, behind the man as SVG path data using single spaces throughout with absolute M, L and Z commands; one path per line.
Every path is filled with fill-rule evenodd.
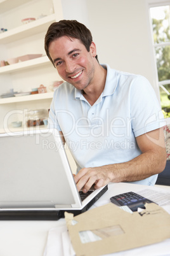
M 42 14 L 44 17 L 39 18 Z M 29 17 L 36 20 L 22 24 L 22 18 Z M 0 61 L 22 55 L 42 54 L 37 59 L 1 66 L 0 95 L 10 92 L 10 89 L 29 92 L 41 84 L 47 88 L 44 94 L 0 98 L 0 133 L 6 131 L 6 127 L 11 127 L 11 122 L 24 120 L 24 117 L 18 115 L 18 110 L 49 109 L 53 97 L 49 85 L 61 79 L 46 57 L 44 36 L 49 25 L 62 18 L 60 0 L 0 0 L 0 27 L 8 29 L 0 34 Z M 8 121 L 4 122 L 7 115 Z M 17 129 L 20 131 L 25 128 L 23 124 L 23 127 Z

